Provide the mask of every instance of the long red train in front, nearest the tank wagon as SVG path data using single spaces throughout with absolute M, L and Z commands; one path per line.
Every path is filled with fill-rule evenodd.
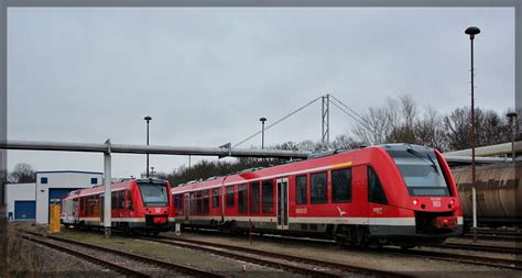
M 172 189 L 176 222 L 328 236 L 351 245 L 443 244 L 461 234 L 449 167 L 410 144 L 331 153 Z

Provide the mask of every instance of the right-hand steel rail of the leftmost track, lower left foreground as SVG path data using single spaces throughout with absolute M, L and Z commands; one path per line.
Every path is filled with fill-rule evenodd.
M 30 232 L 30 231 L 23 231 L 23 232 L 29 233 L 29 234 L 33 234 L 33 235 L 42 236 L 41 234 L 35 233 L 35 232 Z M 69 243 L 69 244 L 74 244 L 74 245 L 78 245 L 78 246 L 83 246 L 83 247 L 87 247 L 87 248 L 98 249 L 98 251 L 102 251 L 102 252 L 107 252 L 107 253 L 112 253 L 112 254 L 116 254 L 116 255 L 119 255 L 119 256 L 122 256 L 122 257 L 128 257 L 128 258 L 131 258 L 131 259 L 144 262 L 144 263 L 148 263 L 148 264 L 157 265 L 160 267 L 170 268 L 170 269 L 173 269 L 173 270 L 177 270 L 177 271 L 188 274 L 188 275 L 193 275 L 193 276 L 197 276 L 197 277 L 215 277 L 215 278 L 225 277 L 222 275 L 218 275 L 218 274 L 207 271 L 207 270 L 204 270 L 204 269 L 199 269 L 199 268 L 195 268 L 195 267 L 191 267 L 191 266 L 186 266 L 186 265 L 180 265 L 180 264 L 165 262 L 165 260 L 161 260 L 161 259 L 155 259 L 155 258 L 151 258 L 151 257 L 145 257 L 145 256 L 129 253 L 129 252 L 107 248 L 107 247 L 102 247 L 102 246 L 99 246 L 99 245 L 94 245 L 94 244 L 88 244 L 88 243 L 84 243 L 84 242 L 67 240 L 67 238 L 53 236 L 53 235 L 47 235 L 47 238 L 51 238 L 51 240 L 57 241 L 57 242 Z

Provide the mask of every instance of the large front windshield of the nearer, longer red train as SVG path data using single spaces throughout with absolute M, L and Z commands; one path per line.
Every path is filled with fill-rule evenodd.
M 433 151 L 388 151 L 411 196 L 449 196 L 438 159 Z

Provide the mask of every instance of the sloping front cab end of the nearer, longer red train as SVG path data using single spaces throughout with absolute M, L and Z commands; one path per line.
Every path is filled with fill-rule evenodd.
M 390 165 L 395 166 L 377 170 L 383 177 L 389 216 L 406 221 L 390 225 L 385 236 L 372 226 L 370 234 L 401 246 L 438 245 L 461 234 L 458 192 L 442 154 L 410 144 L 388 144 L 382 149 L 391 157 Z M 369 190 L 371 193 L 371 187 Z

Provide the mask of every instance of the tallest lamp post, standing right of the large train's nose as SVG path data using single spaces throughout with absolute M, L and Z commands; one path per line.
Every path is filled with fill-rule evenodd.
M 471 26 L 464 32 L 469 35 L 471 42 L 471 189 L 472 189 L 472 209 L 474 209 L 474 242 L 477 242 L 477 189 L 475 188 L 475 69 L 474 69 L 474 40 L 475 35 L 480 33 L 480 29 Z

